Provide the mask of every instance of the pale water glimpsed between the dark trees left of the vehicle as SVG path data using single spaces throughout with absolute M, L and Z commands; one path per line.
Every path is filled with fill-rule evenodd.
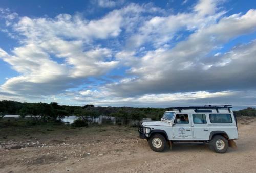
M 31 116 L 25 116 L 25 118 L 30 118 Z M 19 115 L 5 115 L 4 118 L 19 118 Z M 62 119 L 62 122 L 64 123 L 73 123 L 74 120 L 77 120 L 79 117 L 77 116 L 65 116 L 63 119 Z M 108 121 L 109 123 L 113 123 L 115 124 L 116 123 L 116 118 L 115 117 L 112 117 L 112 116 L 99 116 L 97 118 L 89 118 L 89 120 L 92 122 L 92 123 L 98 123 L 98 124 L 102 124 L 102 123 L 106 123 L 106 121 Z M 143 118 L 140 120 L 140 122 L 149 122 L 149 121 L 152 121 L 151 118 Z M 134 123 L 134 121 L 130 121 L 130 123 Z M 139 123 L 139 121 L 135 121 L 135 123 Z

